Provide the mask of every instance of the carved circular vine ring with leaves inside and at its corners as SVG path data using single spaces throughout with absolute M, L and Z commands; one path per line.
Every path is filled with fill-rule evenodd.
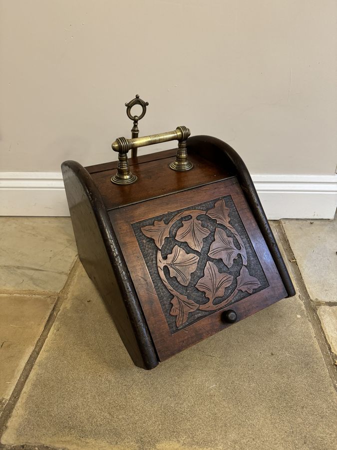
M 157 269 L 172 294 L 170 314 L 176 317 L 177 327 L 187 321 L 190 312 L 216 311 L 233 302 L 239 291 L 252 293 L 261 285 L 248 271 L 247 251 L 230 223 L 224 199 L 207 211 L 181 211 L 168 223 L 155 220 L 141 230 L 157 246 Z M 231 268 L 238 260 L 241 267 L 234 272 Z M 223 270 L 219 270 L 219 261 Z M 196 292 L 204 301 L 196 299 Z

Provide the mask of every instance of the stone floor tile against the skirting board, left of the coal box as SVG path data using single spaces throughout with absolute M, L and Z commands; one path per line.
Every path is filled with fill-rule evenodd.
M 62 289 L 77 253 L 70 217 L 0 217 L 0 229 L 0 289 Z

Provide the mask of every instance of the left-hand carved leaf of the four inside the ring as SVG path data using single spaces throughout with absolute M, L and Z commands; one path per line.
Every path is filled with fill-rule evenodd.
M 180 284 L 187 286 L 191 279 L 191 273 L 197 268 L 199 256 L 175 245 L 172 253 L 167 255 L 164 263 L 167 265 L 170 276 L 175 276 Z

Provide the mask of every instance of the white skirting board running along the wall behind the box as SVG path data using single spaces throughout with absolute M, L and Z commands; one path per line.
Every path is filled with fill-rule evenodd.
M 333 218 L 337 175 L 252 175 L 269 219 Z M 60 172 L 0 172 L 0 215 L 67 216 Z

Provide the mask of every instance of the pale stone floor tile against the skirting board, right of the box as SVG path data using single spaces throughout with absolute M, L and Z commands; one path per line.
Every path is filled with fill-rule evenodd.
M 337 301 L 337 219 L 283 219 L 312 300 Z

